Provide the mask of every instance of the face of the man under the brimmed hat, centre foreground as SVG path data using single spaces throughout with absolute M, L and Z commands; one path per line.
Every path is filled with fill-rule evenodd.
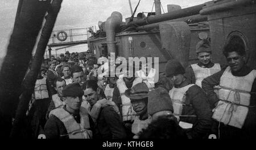
M 131 99 L 131 105 L 133 106 L 133 110 L 137 113 L 137 115 L 141 115 L 147 111 L 146 100 L 133 100 Z

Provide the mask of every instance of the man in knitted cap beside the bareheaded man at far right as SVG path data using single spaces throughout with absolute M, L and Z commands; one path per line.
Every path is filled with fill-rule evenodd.
M 210 42 L 208 40 L 201 40 L 197 43 L 196 54 L 199 63 L 189 65 L 185 70 L 185 76 L 187 76 L 190 83 L 202 87 L 202 80 L 220 71 L 221 66 L 219 63 L 212 63 L 212 50 L 210 49 Z

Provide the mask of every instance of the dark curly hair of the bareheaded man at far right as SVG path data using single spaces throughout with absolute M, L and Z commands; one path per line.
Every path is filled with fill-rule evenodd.
M 223 54 L 225 55 L 225 57 L 228 57 L 228 53 L 231 52 L 237 52 L 239 55 L 245 55 L 245 47 L 237 43 L 229 43 L 225 45 L 223 49 Z

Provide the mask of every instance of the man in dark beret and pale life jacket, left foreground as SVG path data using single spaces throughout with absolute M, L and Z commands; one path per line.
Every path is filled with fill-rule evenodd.
M 92 119 L 85 108 L 80 107 L 82 91 L 79 83 L 72 83 L 63 88 L 65 105 L 53 109 L 44 126 L 47 139 L 91 139 Z

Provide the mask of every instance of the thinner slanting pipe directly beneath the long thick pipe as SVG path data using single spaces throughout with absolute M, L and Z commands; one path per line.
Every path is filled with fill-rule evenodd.
M 173 20 L 168 20 L 166 22 L 185 22 L 185 23 L 197 23 L 197 22 L 204 22 L 207 21 L 207 16 L 206 15 L 193 15 L 193 16 L 186 16 L 184 18 L 179 18 L 179 19 L 173 19 Z M 143 25 L 140 27 L 137 27 L 137 30 L 144 30 L 148 31 L 154 28 L 159 28 L 159 24 L 165 23 L 165 22 L 160 22 L 160 23 L 153 23 L 153 24 L 148 24 L 148 25 Z

